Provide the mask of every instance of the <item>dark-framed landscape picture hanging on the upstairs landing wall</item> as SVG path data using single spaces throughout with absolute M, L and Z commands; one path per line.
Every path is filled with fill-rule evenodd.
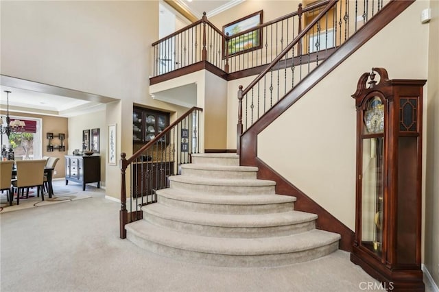
M 262 10 L 254 12 L 248 16 L 228 23 L 222 27 L 224 34 L 228 33 L 228 36 L 234 36 L 240 32 L 244 32 L 253 27 L 258 27 L 262 24 Z M 223 44 L 223 48 L 225 44 Z M 254 29 L 251 32 L 237 36 L 236 38 L 230 38 L 228 41 L 228 56 L 233 56 L 239 53 L 252 51 L 254 49 L 260 49 L 262 47 L 262 29 Z M 226 56 L 226 50 L 223 49 L 223 54 Z

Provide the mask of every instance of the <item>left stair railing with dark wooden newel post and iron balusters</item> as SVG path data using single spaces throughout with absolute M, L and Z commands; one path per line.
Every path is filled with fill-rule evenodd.
M 156 191 L 169 187 L 169 176 L 180 174 L 181 165 L 191 162 L 190 155 L 202 151 L 201 112 L 202 108 L 191 108 L 130 158 L 121 153 L 121 239 L 126 238 L 127 223 L 143 218 L 141 207 L 157 202 Z M 126 173 L 129 174 L 128 193 Z

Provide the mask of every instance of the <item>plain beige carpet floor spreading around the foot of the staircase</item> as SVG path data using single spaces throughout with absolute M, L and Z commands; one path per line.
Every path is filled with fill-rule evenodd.
M 376 283 L 342 251 L 259 268 L 158 256 L 119 239 L 120 203 L 104 190 L 62 183 L 91 199 L 0 213 L 1 292 L 361 292 Z

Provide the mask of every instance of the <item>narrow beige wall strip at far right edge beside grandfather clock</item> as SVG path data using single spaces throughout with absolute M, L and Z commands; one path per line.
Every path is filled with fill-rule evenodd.
M 439 1 L 430 1 L 425 169 L 425 266 L 439 285 Z

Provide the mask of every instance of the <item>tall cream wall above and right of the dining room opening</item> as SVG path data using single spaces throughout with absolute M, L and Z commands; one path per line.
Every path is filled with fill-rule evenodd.
M 1 74 L 123 100 L 102 122 L 117 123 L 119 157 L 132 154 L 133 103 L 184 112 L 149 94 L 158 1 L 2 1 L 0 19 Z M 119 166 L 105 173 L 107 195 L 120 197 Z

